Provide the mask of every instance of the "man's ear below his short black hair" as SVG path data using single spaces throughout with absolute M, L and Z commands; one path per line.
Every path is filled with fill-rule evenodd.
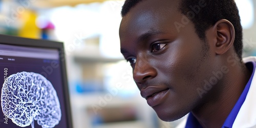
M 234 42 L 235 32 L 233 25 L 226 19 L 219 20 L 212 29 L 215 33 L 215 53 L 222 55 L 226 53 Z

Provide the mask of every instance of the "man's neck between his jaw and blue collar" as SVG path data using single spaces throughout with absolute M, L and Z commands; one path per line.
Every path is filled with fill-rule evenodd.
M 205 102 L 192 112 L 203 127 L 222 127 L 251 76 L 243 63 L 228 69 L 228 74 L 212 88 Z

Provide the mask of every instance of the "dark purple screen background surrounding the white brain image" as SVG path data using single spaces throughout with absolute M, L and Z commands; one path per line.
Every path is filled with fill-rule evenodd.
M 45 76 L 53 85 L 56 90 L 61 109 L 61 119 L 59 124 L 55 127 L 65 128 L 67 127 L 67 118 L 66 118 L 66 108 L 65 108 L 65 94 L 62 84 L 62 75 L 61 75 L 61 62 L 60 60 L 51 60 L 51 59 L 37 59 L 37 58 L 27 58 L 27 57 L 13 57 L 13 56 L 1 56 L 4 60 L 0 60 L 0 88 L 2 89 L 4 83 L 4 69 L 8 69 L 8 75 L 15 74 L 18 72 L 34 72 Z M 8 60 L 8 58 L 15 59 L 14 61 Z M 0 91 L 1 95 L 2 91 Z M 8 118 L 8 124 L 4 123 L 6 120 L 2 111 L 2 106 L 0 110 L 0 127 L 11 128 L 19 127 Z M 35 127 L 41 127 L 34 120 Z M 26 126 L 31 127 L 31 125 Z

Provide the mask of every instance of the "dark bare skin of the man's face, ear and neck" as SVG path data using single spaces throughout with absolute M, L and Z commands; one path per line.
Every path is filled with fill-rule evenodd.
M 192 22 L 177 31 L 173 23 L 183 16 L 178 4 L 149 0 L 132 8 L 120 24 L 121 52 L 160 119 L 174 121 L 191 112 L 203 127 L 221 127 L 251 73 L 235 59 L 235 33 L 228 20 L 219 20 L 206 31 L 208 41 L 201 40 Z M 228 72 L 200 97 L 197 89 L 204 89 L 205 80 L 223 66 Z

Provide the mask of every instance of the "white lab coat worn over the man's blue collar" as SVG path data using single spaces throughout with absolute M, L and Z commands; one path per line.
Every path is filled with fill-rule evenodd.
M 255 61 L 256 57 L 250 56 L 245 57 L 243 61 L 250 62 Z M 256 74 L 256 71 L 253 75 Z M 187 118 L 187 116 L 186 116 Z M 184 128 L 186 125 L 186 120 L 184 119 L 176 128 Z M 233 128 L 256 128 L 256 75 L 253 76 L 251 81 L 250 89 L 247 93 L 245 101 L 241 106 L 241 109 L 234 120 L 232 125 Z

